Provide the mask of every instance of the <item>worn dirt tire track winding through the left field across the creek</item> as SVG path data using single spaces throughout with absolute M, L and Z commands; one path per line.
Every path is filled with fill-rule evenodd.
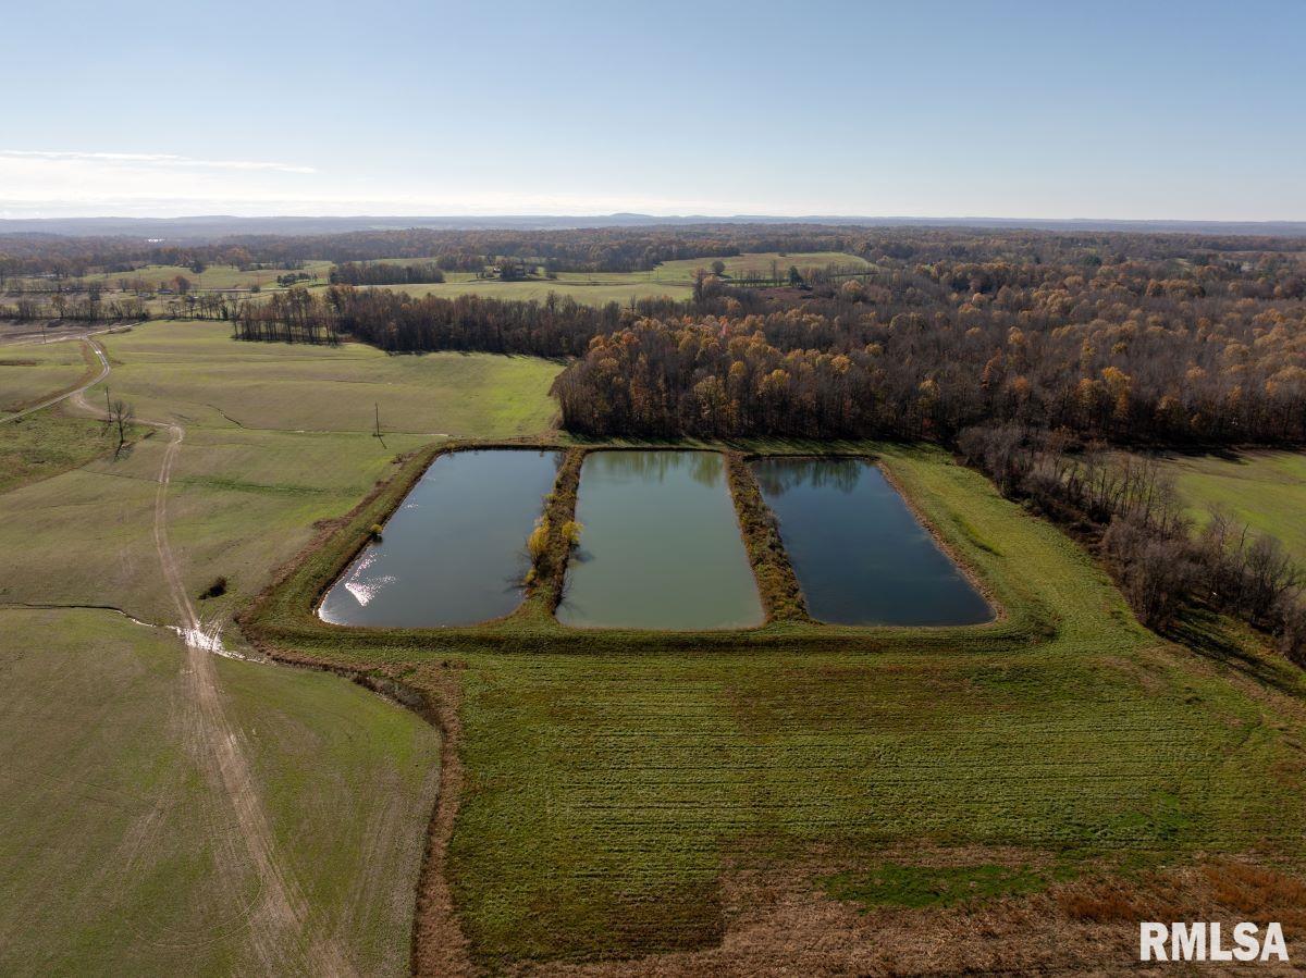
M 108 375 L 108 359 L 95 341 L 89 341 L 104 370 L 93 381 Z M 72 402 L 94 417 L 103 418 L 85 398 L 88 384 L 71 394 Z M 63 398 L 59 398 L 63 400 Z M 182 449 L 185 430 L 172 422 L 137 419 L 170 435 L 157 477 L 154 494 L 154 550 L 176 608 L 182 639 L 185 644 L 185 696 L 182 697 L 182 727 L 187 747 L 201 764 L 205 777 L 231 806 L 234 821 L 212 820 L 210 841 L 218 862 L 223 888 L 235 893 L 246 867 L 252 867 L 260 894 L 248 915 L 252 949 L 264 973 L 308 970 L 321 975 L 351 975 L 355 969 L 334 939 L 306 940 L 308 904 L 294 876 L 277 851 L 276 838 L 266 811 L 259 797 L 249 760 L 240 744 L 239 731 L 231 725 L 222 706 L 217 670 L 212 652 L 215 640 L 206 636 L 187 594 L 167 537 L 167 490 L 172 466 Z

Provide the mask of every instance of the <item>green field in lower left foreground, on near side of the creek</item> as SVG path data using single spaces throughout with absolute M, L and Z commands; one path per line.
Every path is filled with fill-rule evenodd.
M 110 611 L 0 610 L 0 971 L 261 971 L 256 879 L 219 871 L 230 802 L 188 752 L 180 666 L 175 636 Z M 304 944 L 406 973 L 439 735 L 336 676 L 217 667 Z

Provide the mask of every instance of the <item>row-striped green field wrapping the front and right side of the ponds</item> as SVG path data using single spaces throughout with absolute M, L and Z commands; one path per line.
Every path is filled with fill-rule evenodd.
M 1220 622 L 1202 655 L 1166 645 L 944 452 L 841 448 L 879 457 L 1003 619 L 842 649 L 782 625 L 569 654 L 543 635 L 304 646 L 461 691 L 449 876 L 473 962 L 1087 968 L 1135 960 L 1138 921 L 1175 906 L 1294 914 L 1303 884 L 1276 874 L 1306 866 L 1301 672 Z M 1268 875 L 1245 887 L 1226 860 Z

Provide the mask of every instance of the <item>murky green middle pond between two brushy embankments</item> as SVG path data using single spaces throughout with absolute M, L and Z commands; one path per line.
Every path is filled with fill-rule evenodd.
M 613 628 L 743 628 L 764 614 L 716 452 L 593 452 L 585 528 L 558 620 Z

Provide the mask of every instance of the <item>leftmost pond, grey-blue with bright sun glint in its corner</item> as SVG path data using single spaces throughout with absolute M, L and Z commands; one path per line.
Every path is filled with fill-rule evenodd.
M 317 614 L 347 625 L 465 625 L 521 603 L 526 537 L 552 491 L 560 452 L 438 457 L 326 593 Z

